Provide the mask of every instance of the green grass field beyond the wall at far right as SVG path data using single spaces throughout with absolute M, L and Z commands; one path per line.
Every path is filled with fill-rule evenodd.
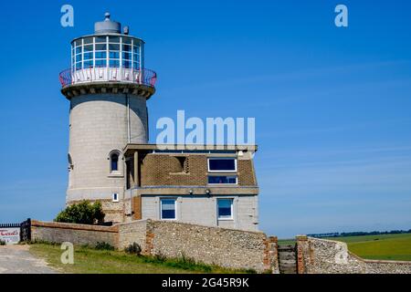
M 411 234 L 331 237 L 366 259 L 411 261 Z

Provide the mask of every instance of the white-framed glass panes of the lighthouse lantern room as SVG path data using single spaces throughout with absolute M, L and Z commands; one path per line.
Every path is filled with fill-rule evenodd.
M 73 71 L 83 68 L 142 68 L 142 42 L 130 36 L 87 36 L 71 47 Z

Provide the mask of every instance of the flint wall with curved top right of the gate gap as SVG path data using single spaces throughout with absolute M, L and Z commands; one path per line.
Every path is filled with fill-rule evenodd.
M 411 274 L 411 262 L 365 260 L 342 242 L 297 236 L 299 274 Z

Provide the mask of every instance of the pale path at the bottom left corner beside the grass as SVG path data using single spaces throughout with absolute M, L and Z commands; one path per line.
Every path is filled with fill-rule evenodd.
M 56 274 L 47 263 L 28 252 L 28 245 L 0 246 L 0 274 Z

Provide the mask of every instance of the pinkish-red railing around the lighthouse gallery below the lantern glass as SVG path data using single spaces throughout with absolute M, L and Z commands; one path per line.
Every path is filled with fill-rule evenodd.
M 59 80 L 63 88 L 91 82 L 129 82 L 154 87 L 157 73 L 145 68 L 84 68 L 77 71 L 67 69 L 60 73 Z

